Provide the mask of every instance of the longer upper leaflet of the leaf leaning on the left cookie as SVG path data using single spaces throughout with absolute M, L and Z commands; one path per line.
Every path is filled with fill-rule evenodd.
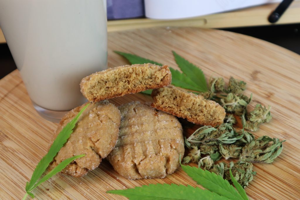
M 38 179 L 45 172 L 49 164 L 52 162 L 53 158 L 56 156 L 58 151 L 67 142 L 67 139 L 70 137 L 73 132 L 73 128 L 75 127 L 76 122 L 78 121 L 79 116 L 85 110 L 85 108 L 89 105 L 89 103 L 80 110 L 80 112 L 73 118 L 67 125 L 61 130 L 58 134 L 54 142 L 52 143 L 48 153 L 40 160 L 38 165 L 36 166 L 32 177 L 29 181 L 29 184 L 26 184 L 26 192 L 31 191 Z

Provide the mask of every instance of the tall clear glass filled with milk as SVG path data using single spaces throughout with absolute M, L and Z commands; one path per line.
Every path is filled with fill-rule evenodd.
M 50 121 L 86 102 L 81 79 L 107 68 L 103 0 L 1 0 L 0 27 L 35 109 Z

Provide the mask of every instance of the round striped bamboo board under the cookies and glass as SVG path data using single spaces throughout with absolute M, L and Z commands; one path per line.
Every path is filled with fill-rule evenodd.
M 178 68 L 171 52 L 175 50 L 201 67 L 207 79 L 223 76 L 228 81 L 232 75 L 247 82 L 245 93 L 253 93 L 250 109 L 256 103 L 272 106 L 272 120 L 254 134 L 287 141 L 273 164 L 254 165 L 257 175 L 246 193 L 252 199 L 300 199 L 299 55 L 252 37 L 200 28 L 151 28 L 109 33 L 109 66 L 128 64 L 113 50 L 134 53 Z M 0 80 L 0 98 L 0 199 L 21 199 L 25 194 L 25 183 L 46 154 L 57 124 L 44 120 L 35 112 L 17 70 Z M 151 101 L 151 97 L 130 94 L 111 102 L 121 105 L 133 100 L 145 102 Z M 164 179 L 130 181 L 119 176 L 104 160 L 82 178 L 59 174 L 33 193 L 37 199 L 125 199 L 105 192 L 151 183 L 196 187 L 182 169 Z

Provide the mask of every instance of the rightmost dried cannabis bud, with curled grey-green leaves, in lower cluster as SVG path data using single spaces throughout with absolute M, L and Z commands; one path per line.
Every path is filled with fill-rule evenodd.
M 272 163 L 282 152 L 282 143 L 278 138 L 259 137 L 246 144 L 240 155 L 240 162 Z

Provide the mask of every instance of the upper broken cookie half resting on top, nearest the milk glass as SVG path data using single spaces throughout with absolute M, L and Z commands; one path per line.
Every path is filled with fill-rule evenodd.
M 90 102 L 120 97 L 171 84 L 167 65 L 133 64 L 93 73 L 81 80 L 83 96 Z

